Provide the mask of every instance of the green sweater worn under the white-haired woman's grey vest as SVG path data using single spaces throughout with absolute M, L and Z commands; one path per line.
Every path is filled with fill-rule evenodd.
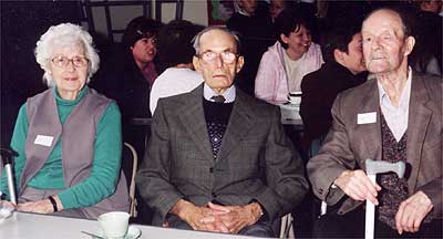
M 53 89 L 62 125 L 75 105 L 84 97 L 86 90 L 87 86 L 80 92 L 74 101 L 68 101 L 61 98 L 56 89 Z M 27 105 L 25 103 L 20 108 L 11 139 L 11 148 L 19 153 L 19 156 L 14 159 L 16 185 L 19 185 L 19 177 L 27 160 L 24 152 L 29 127 Z M 58 196 L 64 209 L 93 206 L 114 194 L 120 176 L 122 155 L 121 115 L 115 102 L 106 107 L 96 126 L 94 158 L 90 176 L 71 188 L 66 188 L 64 185 L 61 141 L 60 137 L 43 167 L 27 186 L 37 189 L 61 189 Z M 0 181 L 0 190 L 3 194 L 8 193 L 4 173 Z

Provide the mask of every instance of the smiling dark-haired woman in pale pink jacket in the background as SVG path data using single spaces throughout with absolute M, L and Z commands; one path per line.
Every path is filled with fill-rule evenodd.
M 302 77 L 323 63 L 320 45 L 312 42 L 309 20 L 285 9 L 276 19 L 278 41 L 261 58 L 255 95 L 268 102 L 286 101 L 299 92 Z

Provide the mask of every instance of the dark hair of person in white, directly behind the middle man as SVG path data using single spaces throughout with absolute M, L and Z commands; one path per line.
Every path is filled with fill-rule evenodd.
M 192 63 L 195 50 L 192 40 L 204 27 L 185 20 L 173 20 L 158 32 L 159 72 L 167 67 Z

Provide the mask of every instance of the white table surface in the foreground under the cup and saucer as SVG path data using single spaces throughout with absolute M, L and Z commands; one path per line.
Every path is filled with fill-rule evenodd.
M 142 230 L 140 238 L 152 239 L 250 239 L 251 237 L 212 233 L 192 230 L 178 230 L 173 228 L 159 228 L 142 225 L 132 225 Z M 96 233 L 100 226 L 96 220 L 75 219 L 65 217 L 55 217 L 48 215 L 37 215 L 27 212 L 14 212 L 11 217 L 0 220 L 1 239 L 90 239 L 90 236 L 81 231 Z

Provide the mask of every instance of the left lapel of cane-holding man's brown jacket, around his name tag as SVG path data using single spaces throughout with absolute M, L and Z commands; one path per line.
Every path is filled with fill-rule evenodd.
M 377 113 L 377 122 L 372 124 L 359 124 L 358 115 L 356 115 L 356 124 L 357 131 L 359 135 L 361 135 L 362 141 L 360 141 L 359 148 L 364 148 L 364 155 L 368 158 L 379 159 L 381 160 L 382 156 L 382 146 L 381 146 L 381 112 L 380 112 L 380 103 L 379 103 L 379 90 L 377 85 L 377 80 L 370 85 L 370 90 L 362 98 L 361 110 L 357 111 L 358 114 L 364 113 Z M 361 158 L 365 160 L 367 158 Z M 364 168 L 364 162 L 360 164 Z

